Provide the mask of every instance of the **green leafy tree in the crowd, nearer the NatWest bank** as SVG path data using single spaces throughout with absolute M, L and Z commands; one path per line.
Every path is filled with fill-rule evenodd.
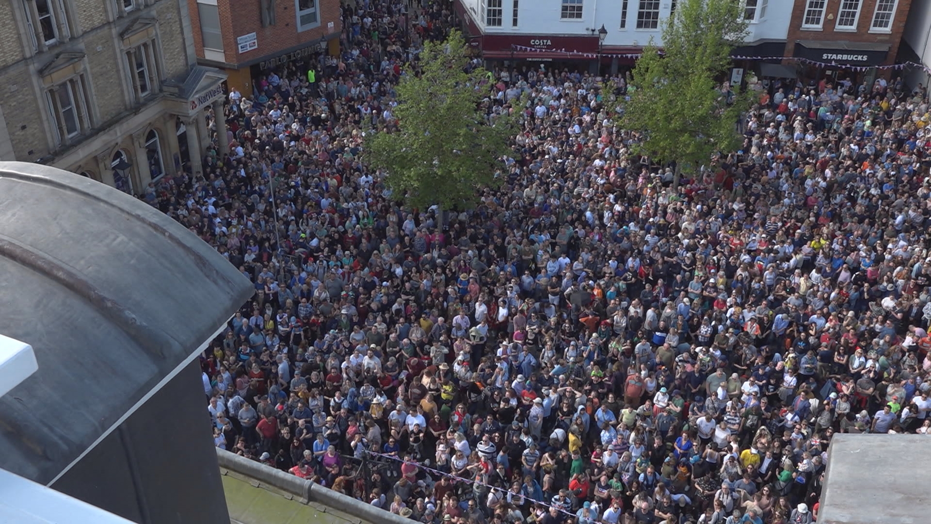
M 504 182 L 496 173 L 510 151 L 516 116 L 488 116 L 489 73 L 468 65 L 459 32 L 427 42 L 398 83 L 397 127 L 367 140 L 365 159 L 385 169 L 386 186 L 408 205 L 468 209 L 477 189 Z

